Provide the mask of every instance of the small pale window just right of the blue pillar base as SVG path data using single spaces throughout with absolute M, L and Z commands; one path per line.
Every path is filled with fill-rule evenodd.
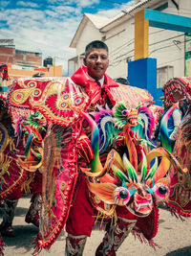
M 158 68 L 158 88 L 162 88 L 166 81 L 174 77 L 173 66 L 163 66 Z

